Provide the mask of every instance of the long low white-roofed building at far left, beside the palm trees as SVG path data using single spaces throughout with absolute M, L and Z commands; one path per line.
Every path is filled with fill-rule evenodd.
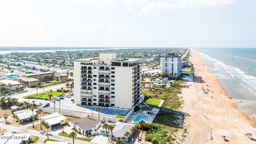
M 19 110 L 16 112 L 13 112 L 14 117 L 18 120 L 18 122 L 23 123 L 23 122 L 29 122 L 32 120 L 32 118 L 37 117 L 37 109 L 32 110 L 30 108 L 25 109 L 25 110 Z

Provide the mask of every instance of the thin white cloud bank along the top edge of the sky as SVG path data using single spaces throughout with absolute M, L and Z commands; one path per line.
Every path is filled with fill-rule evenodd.
M 127 11 L 147 14 L 148 12 L 162 12 L 173 8 L 193 6 L 223 6 L 232 4 L 235 0 L 70 0 L 86 5 L 100 5 L 109 8 L 124 6 Z

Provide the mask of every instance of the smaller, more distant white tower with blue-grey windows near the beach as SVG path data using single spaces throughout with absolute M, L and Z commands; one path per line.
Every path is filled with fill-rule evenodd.
M 162 72 L 167 72 L 172 76 L 179 77 L 181 75 L 182 68 L 182 55 L 168 53 L 165 56 L 161 56 Z

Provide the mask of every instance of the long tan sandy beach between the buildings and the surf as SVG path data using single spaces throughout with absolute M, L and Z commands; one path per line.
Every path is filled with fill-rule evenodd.
M 191 49 L 190 55 L 195 75 L 202 76 L 206 83 L 187 82 L 190 88 L 183 88 L 180 94 L 184 99 L 182 111 L 191 115 L 185 119 L 185 126 L 188 127 L 185 143 L 255 144 L 256 141 L 245 136 L 246 132 L 250 132 L 256 138 L 254 120 L 238 110 L 218 81 L 218 76 L 211 74 L 208 66 Z M 202 87 L 208 94 L 203 93 Z M 229 142 L 225 142 L 222 136 L 226 136 Z

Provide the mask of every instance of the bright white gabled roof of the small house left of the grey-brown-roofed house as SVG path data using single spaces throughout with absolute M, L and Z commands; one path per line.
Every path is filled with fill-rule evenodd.
M 42 119 L 44 119 L 48 124 L 58 124 L 62 122 L 62 120 L 66 120 L 67 118 L 63 116 L 62 114 L 59 114 L 58 112 L 54 112 L 48 116 L 42 116 Z

